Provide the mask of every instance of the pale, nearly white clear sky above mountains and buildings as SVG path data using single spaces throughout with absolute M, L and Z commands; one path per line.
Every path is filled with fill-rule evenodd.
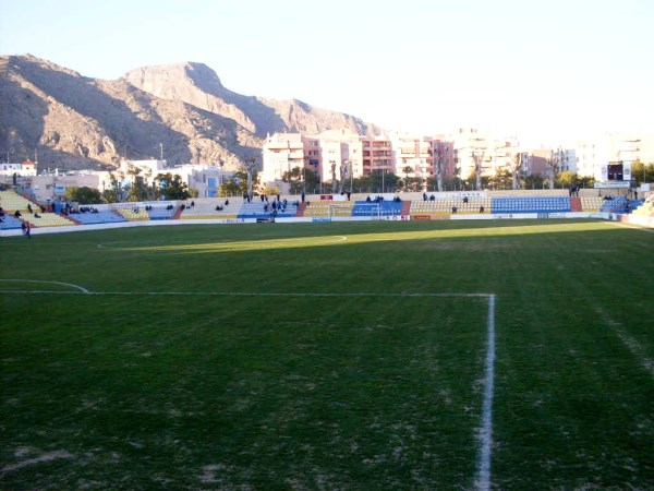
M 532 144 L 654 133 L 653 28 L 654 0 L 0 0 L 3 55 L 109 80 L 197 61 L 240 94 Z

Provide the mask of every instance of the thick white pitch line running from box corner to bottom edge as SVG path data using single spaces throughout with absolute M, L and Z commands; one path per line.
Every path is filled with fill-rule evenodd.
M 480 430 L 480 453 L 476 470 L 476 489 L 491 489 L 491 460 L 493 455 L 493 393 L 495 392 L 495 295 L 488 297 L 488 339 L 486 347 L 484 405 Z

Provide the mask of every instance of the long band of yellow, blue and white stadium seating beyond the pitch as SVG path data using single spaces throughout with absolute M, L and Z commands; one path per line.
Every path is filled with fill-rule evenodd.
M 305 216 L 310 218 L 337 217 L 372 217 L 377 216 L 400 216 L 411 215 L 414 217 L 447 218 L 453 214 L 456 206 L 457 214 L 520 214 L 520 213 L 566 213 L 572 209 L 582 212 L 604 212 L 604 213 L 629 213 L 626 209 L 627 199 L 621 196 L 614 200 L 604 200 L 597 196 L 596 190 L 585 190 L 579 197 L 570 197 L 567 194 L 559 193 L 555 195 L 540 194 L 505 194 L 497 197 L 494 193 L 484 193 L 483 196 L 468 196 L 467 201 L 460 194 L 439 194 L 439 197 L 424 201 L 422 193 L 411 193 L 402 195 L 404 200 L 380 200 L 367 201 L 365 195 L 360 195 L 358 201 L 310 201 L 296 206 L 299 203 L 293 196 L 288 197 L 284 211 L 277 209 L 277 217 Z M 593 194 L 592 194 L 593 193 Z M 415 195 L 413 195 L 415 194 Z M 308 196 L 310 199 L 313 196 Z M 62 215 L 55 213 L 41 213 L 38 204 L 35 204 L 26 197 L 17 194 L 13 190 L 0 191 L 0 205 L 4 209 L 4 220 L 0 223 L 0 229 L 21 228 L 21 219 L 13 217 L 17 209 L 22 218 L 31 221 L 35 227 L 55 227 L 62 225 L 88 225 L 88 224 L 108 224 L 121 221 L 146 221 L 146 220 L 171 220 L 171 219 L 235 219 L 235 218 L 269 218 L 272 212 L 272 202 L 269 202 L 267 209 L 265 203 L 257 196 L 251 203 L 242 197 L 229 197 L 229 204 L 226 205 L 226 199 L 201 197 L 184 202 L 184 208 L 181 209 L 179 203 L 161 202 L 161 205 L 154 204 L 152 209 L 146 209 L 146 203 L 117 203 L 111 204 L 110 209 L 100 212 L 74 213 Z M 153 202 L 154 203 L 154 202 Z M 173 204 L 170 209 L 170 204 Z M 651 196 L 647 201 L 633 201 L 634 215 L 654 216 L 654 203 Z M 639 207 L 640 205 L 640 207 Z M 28 207 L 29 206 L 29 207 Z M 148 204 L 148 207 L 150 205 Z M 104 206 L 101 206 L 104 207 Z M 222 209 L 217 209 L 222 207 Z M 39 217 L 36 218 L 33 212 L 38 209 Z M 35 209 L 36 208 L 36 209 Z M 481 211 L 482 209 L 482 211 Z

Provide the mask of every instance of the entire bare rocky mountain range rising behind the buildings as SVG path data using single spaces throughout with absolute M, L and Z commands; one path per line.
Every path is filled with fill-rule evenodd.
M 120 158 L 158 158 L 161 151 L 172 165 L 222 160 L 235 169 L 261 156 L 267 133 L 340 128 L 378 132 L 299 100 L 237 94 L 202 63 L 106 81 L 29 55 L 0 57 L 0 160 L 37 158 L 39 170 L 111 169 Z

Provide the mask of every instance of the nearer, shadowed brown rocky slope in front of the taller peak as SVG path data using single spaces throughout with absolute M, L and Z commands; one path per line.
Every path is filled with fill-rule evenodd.
M 159 99 L 125 80 L 102 81 L 31 56 L 0 58 L 0 146 L 39 168 L 111 168 L 121 157 L 227 168 L 262 141 L 234 120 L 181 100 Z

